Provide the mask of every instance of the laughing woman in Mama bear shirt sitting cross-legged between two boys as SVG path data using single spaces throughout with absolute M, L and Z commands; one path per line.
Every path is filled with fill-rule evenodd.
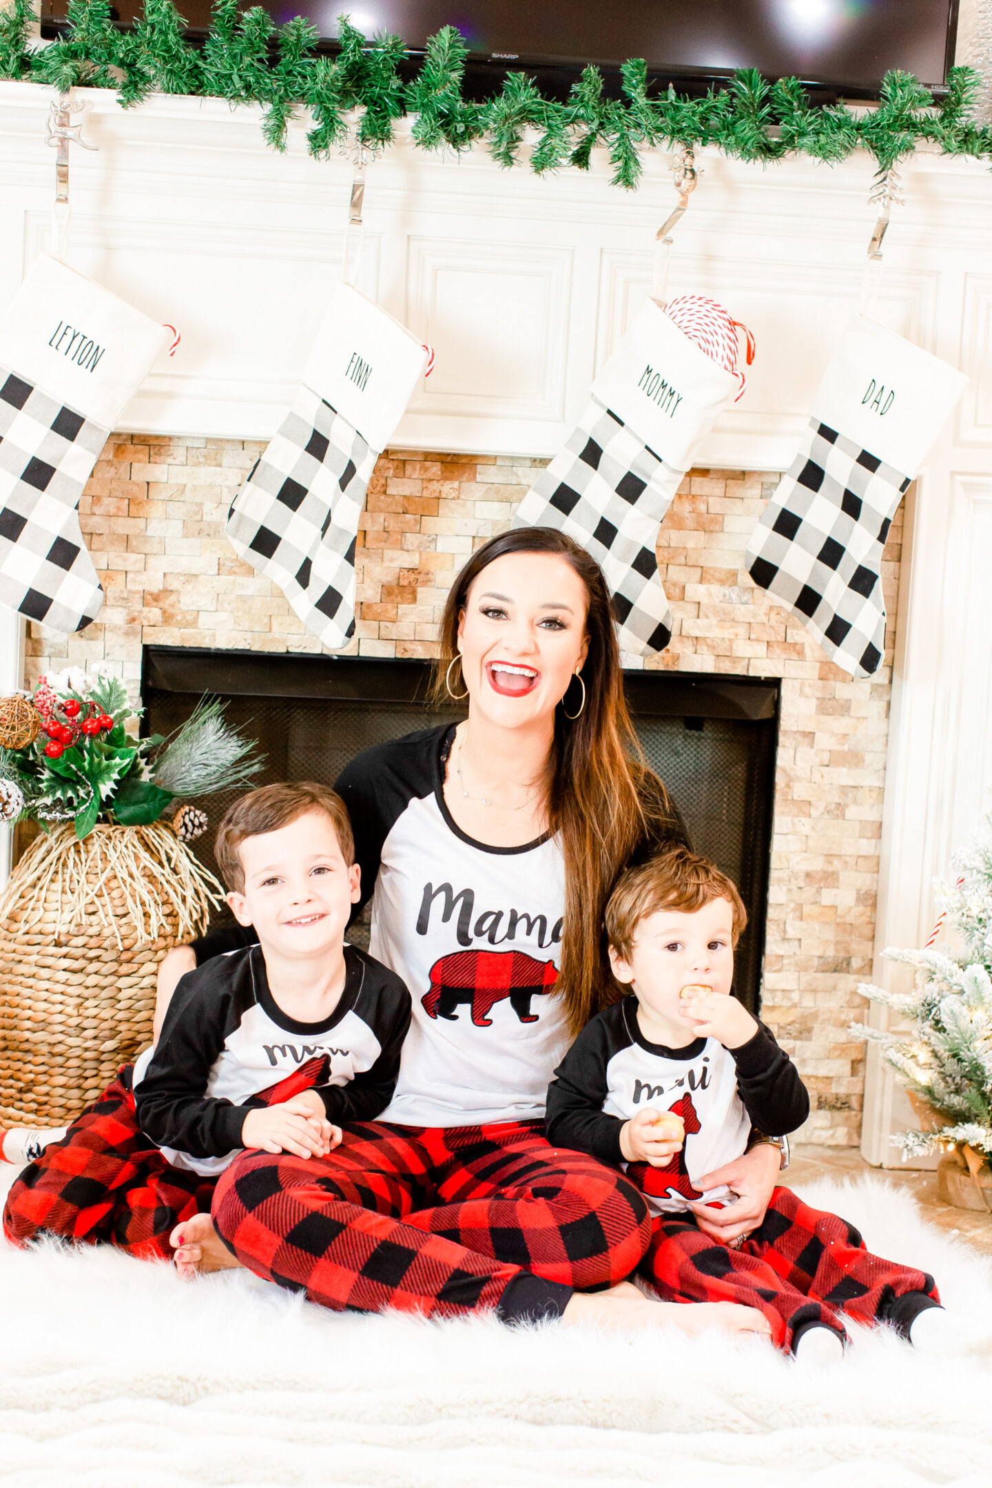
M 372 954 L 413 995 L 396 1095 L 324 1159 L 244 1153 L 216 1229 L 236 1262 L 336 1308 L 662 1321 L 669 1308 L 620 1284 L 650 1237 L 640 1195 L 543 1137 L 552 1071 L 610 995 L 608 891 L 637 853 L 684 841 L 628 757 L 596 562 L 547 528 L 494 537 L 452 586 L 437 677 L 468 719 L 366 750 L 338 781 Z M 778 1165 L 761 1146 L 712 1174 L 741 1201 L 703 1228 L 730 1242 L 759 1225 Z M 180 1266 L 231 1263 L 205 1216 L 175 1242 Z M 763 1327 L 747 1308 L 669 1320 Z

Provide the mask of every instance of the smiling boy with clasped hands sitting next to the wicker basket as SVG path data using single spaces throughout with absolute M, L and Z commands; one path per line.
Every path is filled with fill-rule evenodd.
M 388 1106 L 410 995 L 344 943 L 358 866 L 341 798 L 262 786 L 226 812 L 216 856 L 259 943 L 183 976 L 158 1042 L 24 1170 L 3 1216 L 13 1244 L 49 1234 L 171 1257 L 170 1235 L 210 1213 L 238 1152 L 320 1156 L 344 1122 Z

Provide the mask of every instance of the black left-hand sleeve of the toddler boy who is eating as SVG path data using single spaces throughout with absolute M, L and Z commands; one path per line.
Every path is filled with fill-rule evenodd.
M 626 1036 L 623 1043 L 617 1042 L 616 1013 L 617 1007 L 608 1007 L 582 1030 L 555 1070 L 544 1115 L 544 1135 L 553 1147 L 587 1152 L 601 1162 L 623 1162 L 623 1122 L 602 1109 L 607 1098 L 607 1065 L 623 1043 L 629 1043 Z

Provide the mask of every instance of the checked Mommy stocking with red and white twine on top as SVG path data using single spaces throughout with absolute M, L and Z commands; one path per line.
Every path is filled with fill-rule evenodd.
M 736 326 L 714 301 L 648 301 L 515 516 L 515 527 L 556 527 L 599 562 L 623 650 L 659 652 L 671 640 L 657 528 L 698 442 L 744 391 Z

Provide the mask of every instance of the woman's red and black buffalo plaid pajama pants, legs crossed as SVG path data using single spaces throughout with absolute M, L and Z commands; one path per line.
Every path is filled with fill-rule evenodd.
M 361 1122 L 326 1158 L 245 1152 L 214 1225 L 242 1265 L 329 1308 L 561 1317 L 574 1289 L 629 1277 L 651 1229 L 632 1183 L 541 1126 Z

